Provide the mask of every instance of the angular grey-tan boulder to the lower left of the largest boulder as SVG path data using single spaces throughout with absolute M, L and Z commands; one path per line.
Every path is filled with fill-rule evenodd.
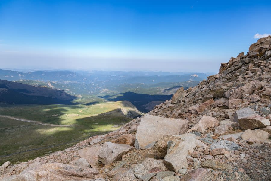
M 117 144 L 105 142 L 98 153 L 98 160 L 107 165 L 121 160 L 123 154 L 132 150 L 134 147 L 127 144 Z

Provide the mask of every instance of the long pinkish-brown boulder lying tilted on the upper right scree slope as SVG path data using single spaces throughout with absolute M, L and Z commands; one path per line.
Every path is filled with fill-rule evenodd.
M 260 81 L 258 80 L 248 82 L 244 86 L 237 88 L 229 97 L 229 100 L 236 99 L 236 98 L 241 99 L 245 94 L 252 94 L 254 91 L 260 90 L 261 87 L 262 85 L 260 84 Z

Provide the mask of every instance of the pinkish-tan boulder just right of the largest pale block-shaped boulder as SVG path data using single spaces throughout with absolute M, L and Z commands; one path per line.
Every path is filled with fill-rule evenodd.
M 215 127 L 218 126 L 219 122 L 213 118 L 212 116 L 202 116 L 198 123 L 194 125 L 192 128 L 188 129 L 187 132 L 191 131 L 200 131 L 200 132 L 205 132 L 208 127 Z

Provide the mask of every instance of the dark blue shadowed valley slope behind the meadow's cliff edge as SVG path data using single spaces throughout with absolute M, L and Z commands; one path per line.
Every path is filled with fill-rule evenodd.
M 99 96 L 100 98 L 106 99 L 108 101 L 121 101 L 121 100 L 127 100 L 131 102 L 136 108 L 143 112 L 148 113 L 149 111 L 145 109 L 145 107 L 142 107 L 145 104 L 148 104 L 152 101 L 166 101 L 170 100 L 172 97 L 172 94 L 170 95 L 149 95 L 149 94 L 137 94 L 134 92 L 125 92 L 120 93 L 119 96 Z

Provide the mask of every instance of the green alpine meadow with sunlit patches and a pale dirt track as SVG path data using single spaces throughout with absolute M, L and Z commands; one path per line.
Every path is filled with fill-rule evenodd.
M 123 112 L 133 109 L 127 101 L 92 105 L 2 105 L 0 115 L 69 127 L 0 117 L 0 165 L 5 161 L 14 164 L 30 160 L 65 149 L 92 135 L 116 130 L 132 120 Z

